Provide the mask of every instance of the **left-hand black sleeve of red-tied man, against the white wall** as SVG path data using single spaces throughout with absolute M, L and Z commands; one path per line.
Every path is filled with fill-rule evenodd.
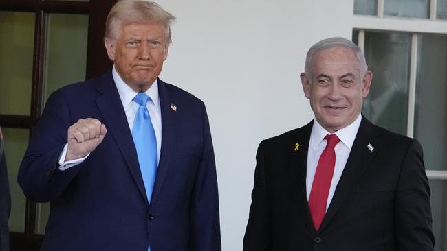
M 254 171 L 252 204 L 246 235 L 243 238 L 244 251 L 272 250 L 272 217 L 265 176 L 264 145 L 265 141 L 262 141 L 256 154 L 257 164 Z

